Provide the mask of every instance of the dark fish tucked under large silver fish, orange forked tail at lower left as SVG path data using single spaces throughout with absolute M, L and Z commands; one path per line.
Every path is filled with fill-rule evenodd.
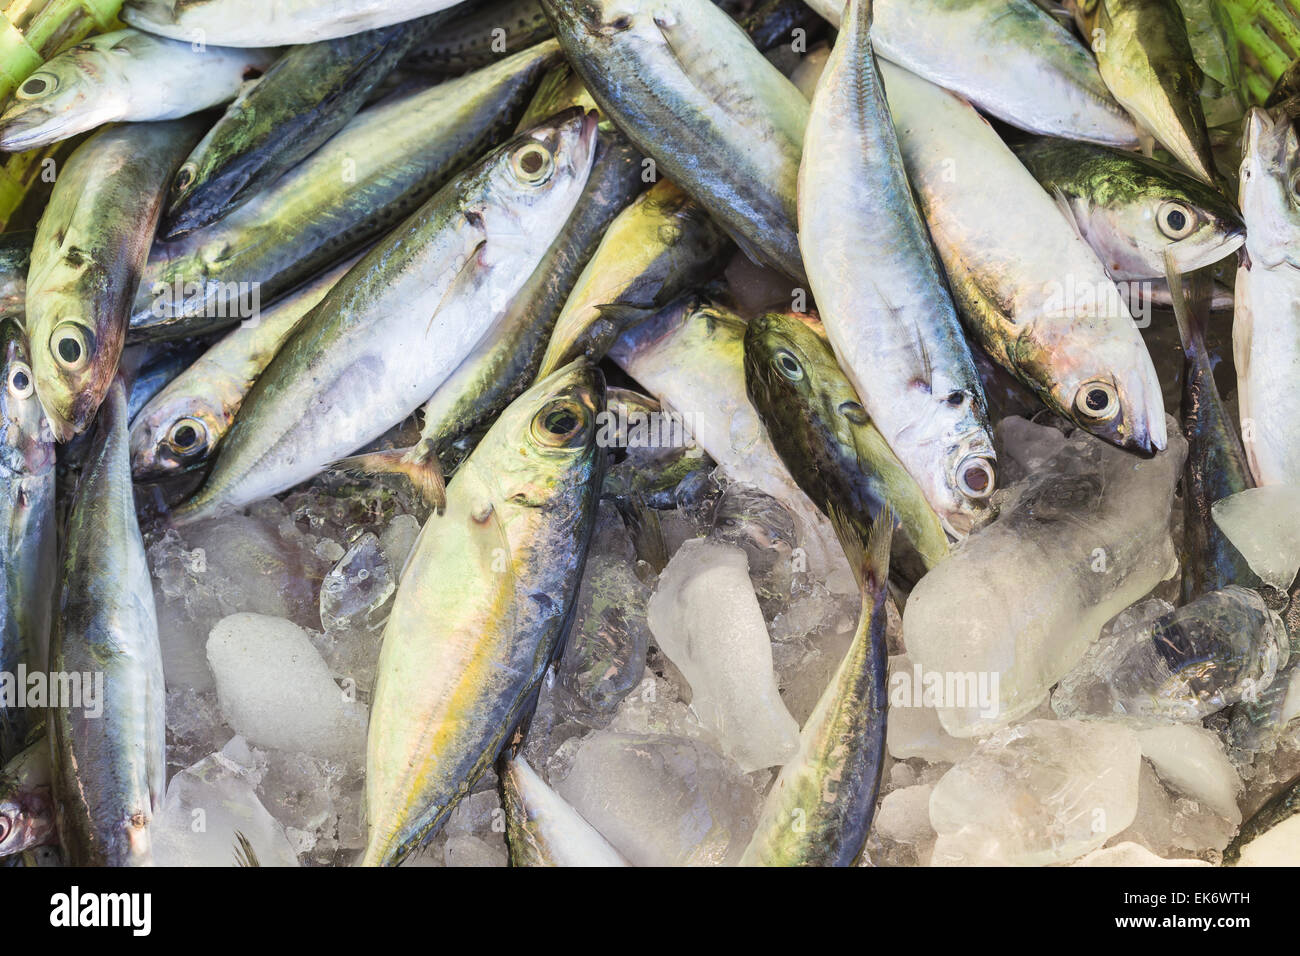
M 542 81 L 520 126 L 526 129 L 572 107 L 593 109 L 594 103 L 572 70 L 560 65 Z M 543 350 L 573 284 L 611 220 L 642 187 L 637 148 L 607 122 L 602 121 L 597 130 L 592 174 L 573 212 L 506 315 L 421 408 L 420 441 L 410 449 L 359 455 L 343 464 L 404 473 L 437 506 L 445 486 L 443 464 L 454 457 L 454 442 L 490 424 L 540 377 Z

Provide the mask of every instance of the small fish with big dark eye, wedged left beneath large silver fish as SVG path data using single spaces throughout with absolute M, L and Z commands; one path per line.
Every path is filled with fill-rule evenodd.
M 131 416 L 131 473 L 153 481 L 211 460 L 285 339 L 356 263 L 350 259 L 203 352 Z M 134 402 L 135 388 L 131 389 Z

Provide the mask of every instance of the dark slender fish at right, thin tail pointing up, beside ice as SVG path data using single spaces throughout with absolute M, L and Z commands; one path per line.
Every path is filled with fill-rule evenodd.
M 1174 254 L 1170 251 L 1166 255 L 1173 258 Z M 1251 479 L 1242 440 L 1214 385 L 1214 368 L 1205 347 L 1204 294 L 1192 297 L 1201 306 L 1193 308 L 1184 298 L 1183 277 L 1178 274 L 1178 268 L 1170 263 L 1169 287 L 1186 356 L 1182 406 L 1183 437 L 1187 438 L 1182 561 L 1182 594 L 1186 605 L 1209 591 L 1219 591 L 1231 584 L 1258 588 L 1261 583 L 1210 515 L 1216 501 L 1254 488 L 1254 481 Z M 1201 285 L 1208 286 L 1208 280 Z

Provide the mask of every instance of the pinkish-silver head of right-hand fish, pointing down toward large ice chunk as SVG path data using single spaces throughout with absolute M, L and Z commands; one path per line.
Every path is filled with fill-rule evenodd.
M 1132 334 L 1115 333 L 1121 317 L 1132 323 L 1118 291 L 1080 303 L 1067 316 L 1028 325 L 1011 360 L 1058 415 L 1112 445 L 1153 455 L 1167 444 L 1165 399 L 1141 334 L 1131 325 Z

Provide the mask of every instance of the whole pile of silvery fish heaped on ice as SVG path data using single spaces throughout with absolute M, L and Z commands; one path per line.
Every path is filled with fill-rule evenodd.
M 1300 864 L 1216 0 L 121 21 L 0 113 L 5 865 Z

